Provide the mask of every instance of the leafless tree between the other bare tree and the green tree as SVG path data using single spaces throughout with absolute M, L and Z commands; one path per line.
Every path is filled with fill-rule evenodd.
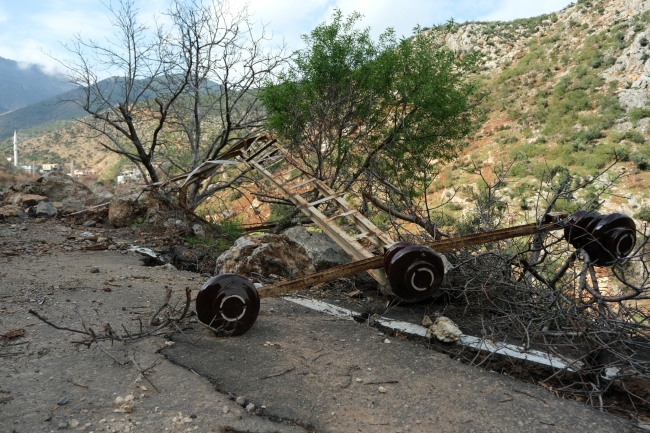
M 256 35 L 246 8 L 234 10 L 224 1 L 173 0 L 167 16 L 176 29 L 169 44 L 182 59 L 181 72 L 189 73 L 170 122 L 182 144 L 167 142 L 162 154 L 183 171 L 218 159 L 233 142 L 261 132 L 266 112 L 258 94 L 285 57 L 284 48 L 265 48 L 265 31 Z M 245 173 L 228 169 L 199 176 L 185 193 L 187 206 L 195 208 Z

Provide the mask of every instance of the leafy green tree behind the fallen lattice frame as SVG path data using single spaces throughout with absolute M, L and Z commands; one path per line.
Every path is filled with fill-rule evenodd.
M 306 48 L 261 94 L 269 127 L 335 190 L 364 192 L 434 234 L 426 193 L 436 161 L 454 158 L 474 125 L 476 57 L 445 44 L 453 23 L 373 40 L 360 18 L 336 11 L 303 36 Z

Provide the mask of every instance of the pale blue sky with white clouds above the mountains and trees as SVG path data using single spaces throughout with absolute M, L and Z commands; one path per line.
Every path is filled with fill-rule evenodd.
M 103 1 L 103 2 L 102 2 Z M 62 43 L 76 34 L 84 39 L 110 38 L 112 28 L 104 3 L 111 0 L 0 0 L 0 57 L 21 64 L 38 64 L 46 72 L 61 70 L 55 59 L 64 59 Z M 113 0 L 115 1 L 115 0 Z M 153 24 L 167 0 L 135 0 L 141 19 Z M 569 0 L 230 0 L 248 4 L 258 23 L 266 24 L 273 43 L 285 43 L 290 51 L 301 48 L 303 34 L 327 21 L 334 9 L 364 15 L 363 27 L 379 35 L 392 27 L 408 36 L 413 27 L 428 27 L 453 18 L 456 22 L 528 18 L 556 12 Z

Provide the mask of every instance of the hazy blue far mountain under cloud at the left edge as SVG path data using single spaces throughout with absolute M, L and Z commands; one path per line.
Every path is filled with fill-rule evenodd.
M 0 57 L 0 114 L 72 89 L 65 76 Z

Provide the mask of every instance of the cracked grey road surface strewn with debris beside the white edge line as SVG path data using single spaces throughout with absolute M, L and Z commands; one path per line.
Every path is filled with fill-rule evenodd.
M 186 287 L 194 298 L 205 276 L 145 267 L 127 251 L 146 239 L 139 228 L 0 222 L 0 432 L 636 430 L 541 387 L 279 298 L 262 301 L 241 337 L 217 338 L 189 317 L 163 334 L 101 348 L 29 313 L 68 328 L 133 333 L 167 288 L 172 303 Z M 97 241 L 111 249 L 93 251 Z

